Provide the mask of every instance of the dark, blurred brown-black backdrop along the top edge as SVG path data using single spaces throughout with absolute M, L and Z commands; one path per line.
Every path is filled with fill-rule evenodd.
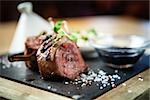
M 17 20 L 17 5 L 33 3 L 33 10 L 44 18 L 120 15 L 149 20 L 149 0 L 0 0 L 0 22 Z

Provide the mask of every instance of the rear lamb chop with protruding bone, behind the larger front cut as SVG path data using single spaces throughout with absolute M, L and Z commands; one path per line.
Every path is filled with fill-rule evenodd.
M 38 70 L 36 52 L 40 45 L 46 41 L 51 35 L 43 33 L 38 36 L 28 37 L 25 41 L 24 53 L 13 54 L 8 57 L 10 62 L 25 61 L 26 66 L 31 70 Z

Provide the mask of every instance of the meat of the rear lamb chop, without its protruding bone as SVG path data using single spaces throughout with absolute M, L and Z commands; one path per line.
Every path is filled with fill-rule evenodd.
M 32 70 L 37 70 L 38 69 L 38 64 L 37 64 L 37 57 L 36 57 L 36 52 L 38 48 L 41 46 L 41 44 L 46 41 L 51 35 L 50 34 L 41 34 L 38 36 L 32 36 L 28 37 L 26 42 L 25 42 L 25 51 L 24 55 L 31 55 L 32 58 L 29 61 L 25 61 L 27 67 Z

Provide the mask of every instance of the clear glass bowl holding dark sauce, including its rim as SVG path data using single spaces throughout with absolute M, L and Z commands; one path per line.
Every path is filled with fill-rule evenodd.
M 110 67 L 132 67 L 144 54 L 148 40 L 136 35 L 106 35 L 91 39 L 91 46 Z

